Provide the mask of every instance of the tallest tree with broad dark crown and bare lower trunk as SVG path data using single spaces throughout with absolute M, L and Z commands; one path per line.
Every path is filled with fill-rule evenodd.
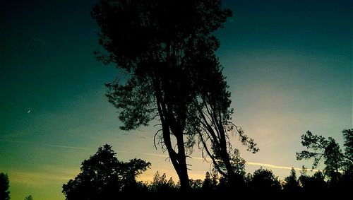
M 121 111 L 121 129 L 147 126 L 157 117 L 159 143 L 169 154 L 181 189 L 189 189 L 186 148 L 193 143 L 184 136 L 189 106 L 200 87 L 195 80 L 213 72 L 208 67 L 214 68 L 219 47 L 213 32 L 230 15 L 220 0 L 101 0 L 92 9 L 106 50 L 97 57 L 120 69 L 116 81 L 107 83 L 107 96 Z

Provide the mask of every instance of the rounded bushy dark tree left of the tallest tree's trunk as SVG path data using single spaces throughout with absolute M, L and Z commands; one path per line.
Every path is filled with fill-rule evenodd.
M 95 155 L 84 160 L 80 173 L 63 185 L 66 199 L 110 199 L 119 192 L 139 192 L 136 176 L 150 167 L 150 163 L 132 159 L 119 161 L 112 146 L 98 148 Z

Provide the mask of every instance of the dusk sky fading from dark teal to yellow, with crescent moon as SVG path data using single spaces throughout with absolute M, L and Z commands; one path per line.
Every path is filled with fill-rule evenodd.
M 80 163 L 109 143 L 119 160 L 141 158 L 177 176 L 167 153 L 153 147 L 152 127 L 121 131 L 104 83 L 114 66 L 95 59 L 97 1 L 0 1 L 0 172 L 11 199 L 64 199 L 62 184 Z M 260 151 L 240 146 L 249 162 L 283 179 L 304 150 L 307 130 L 342 143 L 352 128 L 352 1 L 224 1 L 233 12 L 216 35 L 232 93 L 233 120 Z M 195 149 L 189 175 L 203 179 L 210 163 Z M 262 163 L 262 164 L 261 164 Z M 267 165 L 265 165 L 267 164 Z M 323 167 L 321 165 L 321 167 Z

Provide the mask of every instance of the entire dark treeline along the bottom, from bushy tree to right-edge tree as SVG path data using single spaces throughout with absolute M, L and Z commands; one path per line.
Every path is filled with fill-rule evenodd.
M 156 172 L 152 182 L 137 181 L 136 177 L 150 167 L 150 163 L 132 159 L 121 162 L 116 158 L 112 146 L 104 145 L 88 160 L 84 160 L 80 174 L 63 186 L 66 199 L 112 199 L 121 193 L 159 194 L 191 192 L 198 194 L 248 192 L 249 194 L 342 194 L 353 189 L 352 139 L 353 129 L 342 131 L 345 150 L 338 143 L 310 131 L 301 139 L 308 151 L 297 153 L 297 159 L 314 158 L 313 167 L 323 160 L 325 169 L 308 174 L 302 167 L 300 175 L 292 168 L 288 177 L 279 180 L 272 170 L 260 168 L 246 174 L 244 163 L 239 163 L 237 175 L 229 179 L 219 175 L 217 170 L 206 172 L 204 180 L 190 180 L 188 191 L 181 190 L 180 182 L 167 179 L 165 174 Z M 251 193 L 254 192 L 254 193 Z

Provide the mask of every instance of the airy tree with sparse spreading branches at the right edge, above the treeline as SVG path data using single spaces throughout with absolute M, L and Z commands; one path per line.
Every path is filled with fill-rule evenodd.
M 338 182 L 340 170 L 347 170 L 353 163 L 353 129 L 342 131 L 345 139 L 345 153 L 342 153 L 340 145 L 335 139 L 316 136 L 311 131 L 301 136 L 301 144 L 311 151 L 297 153 L 297 160 L 313 158 L 313 168 L 323 160 L 325 164 L 324 174 L 329 177 L 331 183 Z

